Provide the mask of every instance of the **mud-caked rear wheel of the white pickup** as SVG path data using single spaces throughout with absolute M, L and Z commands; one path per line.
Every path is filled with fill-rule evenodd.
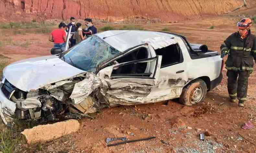
M 183 88 L 180 103 L 186 106 L 192 106 L 204 100 L 206 93 L 206 83 L 202 79 L 195 79 Z

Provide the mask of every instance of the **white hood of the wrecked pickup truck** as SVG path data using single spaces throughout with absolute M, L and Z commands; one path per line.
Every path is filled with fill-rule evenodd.
M 18 89 L 30 91 L 85 72 L 51 55 L 12 63 L 5 67 L 3 76 Z

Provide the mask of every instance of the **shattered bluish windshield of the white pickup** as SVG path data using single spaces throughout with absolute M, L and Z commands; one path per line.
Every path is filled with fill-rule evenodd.
M 95 72 L 99 64 L 119 53 L 98 36 L 91 36 L 67 50 L 61 59 L 81 70 Z

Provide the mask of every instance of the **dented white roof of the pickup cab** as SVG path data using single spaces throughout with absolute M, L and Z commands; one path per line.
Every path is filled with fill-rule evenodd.
M 96 34 L 115 49 L 123 52 L 134 46 L 145 44 L 145 39 L 155 37 L 177 37 L 169 33 L 141 30 L 111 30 Z

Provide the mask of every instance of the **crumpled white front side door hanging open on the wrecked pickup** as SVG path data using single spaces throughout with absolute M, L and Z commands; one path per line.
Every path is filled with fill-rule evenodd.
M 110 106 L 146 103 L 147 96 L 157 84 L 161 59 L 162 56 L 155 56 L 100 70 L 102 94 L 105 95 Z M 124 73 L 119 73 L 120 69 Z

